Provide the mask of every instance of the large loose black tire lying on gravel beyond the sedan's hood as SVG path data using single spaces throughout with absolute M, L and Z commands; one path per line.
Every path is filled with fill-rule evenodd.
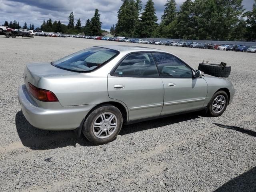
M 200 63 L 198 66 L 198 70 L 215 77 L 228 77 L 231 72 L 231 66 L 226 66 L 223 68 L 218 64 Z

